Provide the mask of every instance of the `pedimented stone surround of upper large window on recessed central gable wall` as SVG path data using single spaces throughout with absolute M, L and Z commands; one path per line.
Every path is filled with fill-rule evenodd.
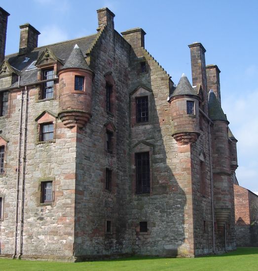
M 146 122 L 137 122 L 137 98 L 148 97 L 148 121 Z M 142 126 L 152 124 L 152 90 L 145 86 L 138 86 L 135 90 L 133 90 L 130 94 L 131 98 L 131 125 L 134 126 Z

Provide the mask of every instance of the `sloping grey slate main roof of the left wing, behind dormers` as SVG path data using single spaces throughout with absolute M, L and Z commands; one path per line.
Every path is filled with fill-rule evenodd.
M 37 69 L 28 70 L 28 67 L 40 57 L 42 52 L 49 47 L 53 53 L 60 58 L 64 63 L 68 60 L 69 56 L 71 55 L 74 45 L 78 44 L 82 55 L 85 56 L 86 52 L 91 48 L 95 39 L 97 39 L 98 34 L 94 34 L 91 36 L 79 38 L 79 39 L 72 39 L 63 42 L 58 42 L 50 45 L 45 45 L 41 47 L 35 48 L 32 52 L 27 53 L 25 55 L 19 55 L 18 53 L 10 54 L 5 56 L 5 60 L 15 69 L 20 72 L 21 79 L 20 84 L 28 84 L 37 82 Z M 26 58 L 29 58 L 27 62 L 24 62 Z M 86 62 L 85 62 L 86 63 Z M 86 63 L 87 64 L 87 63 Z M 89 69 L 89 67 L 88 67 Z M 12 86 L 17 86 L 18 82 L 14 82 Z

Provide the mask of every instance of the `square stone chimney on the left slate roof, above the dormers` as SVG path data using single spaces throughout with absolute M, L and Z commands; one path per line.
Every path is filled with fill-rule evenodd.
M 40 33 L 30 24 L 20 25 L 20 29 L 21 36 L 19 54 L 22 55 L 31 52 L 37 47 L 37 39 Z

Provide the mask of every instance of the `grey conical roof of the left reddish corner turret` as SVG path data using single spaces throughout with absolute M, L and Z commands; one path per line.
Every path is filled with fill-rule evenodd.
M 80 47 L 77 44 L 75 44 L 72 53 L 70 54 L 68 60 L 66 61 L 64 67 L 61 70 L 69 68 L 79 68 L 91 71 L 82 54 Z

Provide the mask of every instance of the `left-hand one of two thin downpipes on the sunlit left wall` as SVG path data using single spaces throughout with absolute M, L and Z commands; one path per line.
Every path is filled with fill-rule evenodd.
M 18 88 L 20 87 L 20 76 L 18 78 Z M 14 250 L 12 259 L 16 256 L 17 251 L 17 228 L 18 228 L 18 200 L 19 200 L 19 179 L 20 179 L 20 159 L 21 159 L 21 137 L 22 137 L 22 112 L 23 112 L 23 89 L 21 90 L 21 107 L 19 121 L 19 138 L 18 138 L 18 157 L 17 157 L 17 174 L 16 174 L 16 200 L 15 200 L 15 232 L 14 232 Z

